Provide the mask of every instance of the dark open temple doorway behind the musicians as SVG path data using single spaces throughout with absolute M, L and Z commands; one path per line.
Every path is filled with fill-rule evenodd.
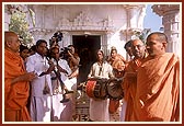
M 78 84 L 87 81 L 90 68 L 96 61 L 96 50 L 101 48 L 100 35 L 73 35 L 72 42 L 80 57 Z

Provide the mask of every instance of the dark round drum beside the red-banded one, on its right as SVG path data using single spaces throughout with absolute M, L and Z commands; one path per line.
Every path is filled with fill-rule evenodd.
M 108 81 L 107 94 L 110 99 L 113 99 L 113 100 L 123 99 L 124 92 L 120 85 L 122 82 L 123 82 L 123 79 L 114 79 L 114 80 Z

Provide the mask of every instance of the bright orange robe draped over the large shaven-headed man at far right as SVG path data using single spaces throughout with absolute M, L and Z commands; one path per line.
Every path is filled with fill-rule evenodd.
M 148 57 L 137 73 L 135 119 L 137 122 L 173 122 L 180 116 L 179 57 L 166 53 Z

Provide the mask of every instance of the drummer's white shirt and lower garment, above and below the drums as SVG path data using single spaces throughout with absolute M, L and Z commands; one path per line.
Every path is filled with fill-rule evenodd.
M 108 79 L 111 77 L 114 77 L 113 68 L 110 64 L 103 62 L 102 70 L 100 69 L 101 66 L 97 62 L 93 64 L 91 71 L 89 73 L 89 78 L 99 77 Z M 108 104 L 110 104 L 108 99 L 106 100 L 90 99 L 90 119 L 94 122 L 110 122 Z

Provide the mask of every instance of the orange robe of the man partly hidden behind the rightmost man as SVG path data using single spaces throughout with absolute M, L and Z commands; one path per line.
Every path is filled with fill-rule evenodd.
M 136 76 L 126 78 L 126 73 L 135 73 L 137 69 L 141 65 L 141 59 L 133 59 L 128 62 L 125 69 L 125 78 L 123 82 L 123 90 L 124 90 L 124 100 L 127 102 L 126 112 L 125 112 L 125 122 L 129 122 L 133 116 L 134 111 L 134 100 L 136 96 Z

